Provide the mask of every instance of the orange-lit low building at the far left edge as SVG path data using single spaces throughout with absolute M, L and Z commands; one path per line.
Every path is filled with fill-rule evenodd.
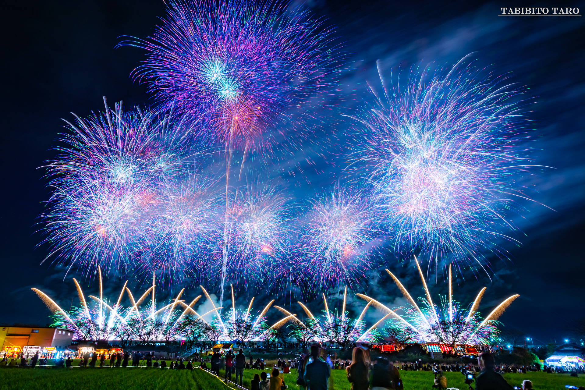
M 57 350 L 63 350 L 71 344 L 72 339 L 73 330 L 62 327 L 0 327 L 0 351 L 11 346 L 56 347 Z

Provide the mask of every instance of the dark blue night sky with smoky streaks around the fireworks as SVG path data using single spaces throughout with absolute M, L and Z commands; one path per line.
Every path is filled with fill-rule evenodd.
M 513 82 L 526 85 L 534 96 L 531 119 L 535 130 L 531 144 L 535 164 L 555 169 L 539 172 L 525 185 L 534 187 L 536 201 L 555 209 L 531 205 L 519 220 L 521 246 L 506 249 L 509 258 L 490 259 L 491 279 L 486 275 L 458 281 L 455 298 L 471 301 L 484 285 L 482 312 L 512 294 L 521 297 L 500 318 L 509 329 L 518 329 L 535 343 L 564 339 L 570 322 L 585 312 L 585 40 L 583 18 L 512 19 L 497 16 L 498 2 L 391 2 L 308 1 L 317 16 L 336 27 L 354 70 L 342 83 L 364 94 L 366 80 L 376 80 L 376 60 L 388 70 L 400 65 L 454 64 L 471 52 L 479 64 Z M 566 2 L 563 6 L 580 6 Z M 542 2 L 522 6 L 550 6 Z M 556 6 L 556 4 L 555 4 Z M 146 85 L 133 82 L 130 72 L 144 59 L 135 47 L 114 49 L 121 36 L 144 38 L 164 15 L 163 1 L 43 1 L 9 2 L 2 23 L 2 278 L 0 323 L 49 322 L 50 314 L 30 290 L 38 287 L 64 307 L 74 296 L 71 277 L 84 280 L 86 293 L 95 283 L 84 275 L 57 265 L 39 265 L 47 247 L 36 247 L 42 236 L 37 216 L 49 198 L 44 170 L 36 169 L 55 156 L 50 150 L 64 131 L 61 118 L 70 112 L 81 117 L 123 100 L 126 107 L 154 103 Z M 351 105 L 351 103 L 349 104 Z M 349 132 L 337 126 L 335 132 Z M 340 137 L 343 138 L 343 137 Z M 321 175 L 307 177 L 307 188 L 295 185 L 295 195 L 310 196 L 315 189 L 335 183 L 333 160 L 324 154 L 315 159 Z M 329 161 L 328 161 L 329 160 Z M 335 165 L 335 164 L 333 164 Z M 308 174 L 307 174 L 308 175 Z M 303 192 L 305 194 L 303 195 Z M 418 294 L 412 263 L 398 264 L 388 256 L 386 267 L 395 271 L 411 292 Z M 385 272 L 384 272 L 385 273 Z M 379 279 L 364 288 L 366 294 L 391 304 L 400 296 L 391 279 Z M 374 275 L 375 276 L 375 275 Z M 374 277 L 373 276 L 373 277 Z M 130 280 L 130 284 L 139 281 Z M 123 281 L 110 279 L 108 289 Z M 430 281 L 433 294 L 445 294 L 442 278 Z M 90 284 L 90 288 L 87 286 Z M 192 291 L 190 295 L 198 295 Z M 395 302 L 400 302 L 395 301 Z M 77 298 L 73 305 L 77 304 Z M 363 307 L 363 302 L 357 302 Z M 295 306 L 293 306 L 294 308 Z M 298 310 L 298 306 L 295 310 Z M 319 308 L 319 306 L 315 306 Z M 357 306 L 356 306 L 357 307 Z

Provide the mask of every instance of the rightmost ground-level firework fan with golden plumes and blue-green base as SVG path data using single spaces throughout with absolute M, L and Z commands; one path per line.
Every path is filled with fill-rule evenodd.
M 387 313 L 370 329 L 381 327 L 385 320 L 389 320 L 388 330 L 394 337 L 398 335 L 398 338 L 402 338 L 402 342 L 438 343 L 452 347 L 460 344 L 490 344 L 490 341 L 499 333 L 496 320 L 519 295 L 512 295 L 505 299 L 485 319 L 482 319 L 477 309 L 486 288 L 481 289 L 475 301 L 470 303 L 469 309 L 463 309 L 459 302 L 453 300 L 452 272 L 449 265 L 449 292 L 448 295 L 440 296 L 440 303 L 436 305 L 432 301 L 431 293 L 416 258 L 415 262 L 425 290 L 425 297 L 418 298 L 422 307 L 412 299 L 404 285 L 388 270 L 386 271 L 408 301 L 408 305 L 389 309 L 376 299 L 356 294 L 365 299 L 368 305 Z M 404 314 L 398 315 L 397 311 L 402 311 Z

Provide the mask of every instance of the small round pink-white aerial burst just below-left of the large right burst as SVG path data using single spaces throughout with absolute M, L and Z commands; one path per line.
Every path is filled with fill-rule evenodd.
M 362 194 L 338 189 L 314 201 L 304 217 L 298 256 L 319 288 L 356 284 L 373 264 L 378 234 L 377 215 Z

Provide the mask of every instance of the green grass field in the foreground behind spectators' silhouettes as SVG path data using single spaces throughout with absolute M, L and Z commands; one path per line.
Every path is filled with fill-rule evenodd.
M 170 361 L 167 362 L 170 364 Z M 269 371 L 269 370 L 267 370 Z M 220 376 L 223 378 L 223 370 Z M 259 370 L 245 370 L 243 385 L 250 388 L 250 381 L 254 374 L 260 374 Z M 404 381 L 405 390 L 429 390 L 433 384 L 433 373 L 430 371 L 400 371 Z M 464 377 L 460 372 L 446 372 L 447 386 L 460 390 L 467 390 Z M 565 385 L 585 386 L 585 376 L 572 378 L 568 374 L 546 374 L 544 372 L 532 372 L 529 374 L 504 374 L 504 378 L 513 386 L 520 386 L 524 379 L 534 383 L 536 390 L 565 389 Z M 232 380 L 234 380 L 232 374 Z M 289 390 L 298 390 L 296 384 L 297 373 L 284 374 L 284 381 Z M 349 390 L 345 371 L 332 371 L 333 388 L 335 390 Z M 1 390 L 43 389 L 43 390 L 178 390 L 178 389 L 226 389 L 226 386 L 215 378 L 214 375 L 202 370 L 160 370 L 158 368 L 134 368 L 120 369 L 103 368 L 78 368 L 71 370 L 65 368 L 47 367 L 35 368 L 2 368 L 0 370 Z

